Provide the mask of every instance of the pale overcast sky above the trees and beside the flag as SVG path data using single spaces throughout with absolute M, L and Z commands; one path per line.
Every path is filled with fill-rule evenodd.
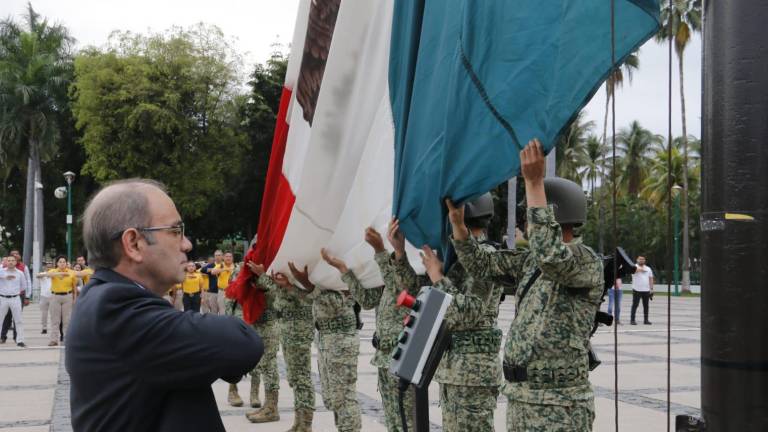
M 0 0 L 0 17 L 20 17 L 27 0 Z M 187 27 L 199 22 L 214 24 L 243 56 L 247 69 L 262 63 L 280 43 L 286 49 L 293 36 L 298 0 L 35 0 L 35 10 L 51 21 L 67 26 L 78 47 L 104 44 L 113 30 L 137 33 L 160 32 L 171 26 Z M 637 120 L 657 134 L 668 129 L 668 51 L 654 41 L 640 50 L 640 69 L 631 83 L 616 93 L 617 131 Z M 688 133 L 701 136 L 701 38 L 696 35 L 684 58 Z M 672 130 L 681 128 L 678 66 L 673 55 Z M 602 134 L 605 89 L 601 88 L 585 107 L 594 133 Z M 610 124 L 609 124 L 610 128 Z M 609 130 L 610 134 L 610 130 Z

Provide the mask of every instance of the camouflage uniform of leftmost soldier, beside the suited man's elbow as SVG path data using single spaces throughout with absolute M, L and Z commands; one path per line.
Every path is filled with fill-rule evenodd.
M 278 316 L 276 296 L 280 291 L 272 282 L 272 279 L 266 274 L 262 274 L 258 282 L 259 286 L 264 288 L 264 296 L 267 300 L 266 308 L 259 319 L 253 323 L 253 329 L 261 336 L 264 342 L 264 356 L 259 364 L 250 372 L 253 380 L 251 385 L 259 387 L 261 379 L 264 380 L 264 392 L 277 391 L 280 389 L 280 373 L 277 370 L 277 350 L 280 348 L 280 329 L 278 326 Z

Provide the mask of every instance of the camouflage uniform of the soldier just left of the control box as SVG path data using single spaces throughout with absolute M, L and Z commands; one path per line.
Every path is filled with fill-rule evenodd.
M 408 310 L 398 307 L 396 304 L 399 289 L 394 277 L 393 256 L 387 252 L 379 252 L 374 258 L 381 270 L 384 286 L 363 288 L 351 271 L 344 274 L 342 280 L 349 287 L 352 297 L 363 309 L 376 308 L 375 337 L 377 344 L 371 365 L 378 368 L 379 394 L 381 394 L 381 400 L 384 404 L 384 422 L 387 430 L 400 432 L 402 431 L 402 421 L 398 405 L 399 379 L 389 373 L 389 364 L 392 360 L 392 350 L 397 346 L 397 337 L 403 329 L 403 318 L 408 314 Z M 412 295 L 418 292 L 415 288 L 409 289 L 409 291 Z M 405 393 L 403 405 L 406 413 L 413 412 L 413 392 Z M 408 422 L 408 430 L 412 431 L 413 416 L 408 415 L 406 421 Z

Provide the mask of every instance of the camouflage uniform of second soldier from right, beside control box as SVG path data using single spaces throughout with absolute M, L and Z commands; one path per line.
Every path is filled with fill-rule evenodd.
M 485 241 L 485 236 L 477 241 Z M 495 251 L 490 245 L 480 245 Z M 418 286 L 416 273 L 402 260 L 397 273 L 403 286 Z M 430 285 L 428 280 L 422 284 Z M 496 327 L 503 285 L 474 278 L 457 262 L 435 285 L 454 298 L 445 316 L 450 347 L 435 372 L 446 432 L 493 431 L 493 412 L 502 382 L 501 330 Z

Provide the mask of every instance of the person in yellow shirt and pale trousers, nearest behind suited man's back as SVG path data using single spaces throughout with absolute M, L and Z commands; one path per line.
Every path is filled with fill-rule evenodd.
M 67 259 L 63 256 L 56 258 L 56 267 L 37 275 L 38 278 L 51 278 L 51 300 L 48 310 L 51 317 L 51 340 L 48 346 L 59 344 L 59 323 L 62 324 L 63 334 L 69 328 L 69 317 L 72 314 L 72 303 L 77 298 L 77 275 L 69 269 Z

